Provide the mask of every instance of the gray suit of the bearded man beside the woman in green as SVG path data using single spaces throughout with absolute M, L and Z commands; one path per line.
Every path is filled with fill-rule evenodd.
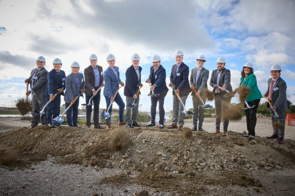
M 217 75 L 218 70 L 215 69 L 212 71 L 211 79 L 210 79 L 210 86 L 213 87 L 214 84 L 217 84 Z M 219 86 L 223 86 L 226 84 L 226 89 L 229 91 L 233 91 L 232 85 L 231 85 L 231 71 L 229 69 L 223 68 L 220 77 L 219 77 Z M 214 103 L 215 103 L 215 111 L 216 111 L 216 130 L 220 131 L 220 122 L 222 113 L 225 112 L 229 104 L 231 102 L 231 98 L 224 97 L 225 91 L 220 90 L 220 93 L 215 93 L 214 97 Z M 229 126 L 229 120 L 223 121 L 223 131 L 227 132 Z

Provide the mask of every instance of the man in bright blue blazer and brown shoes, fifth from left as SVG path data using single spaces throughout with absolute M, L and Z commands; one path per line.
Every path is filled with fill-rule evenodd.
M 117 93 L 116 97 L 114 98 L 114 95 L 116 94 L 116 91 L 119 87 L 119 84 L 121 86 L 124 86 L 125 84 L 120 79 L 120 73 L 119 73 L 119 67 L 115 66 L 116 58 L 113 54 L 109 54 L 107 56 L 107 62 L 109 64 L 109 67 L 106 69 L 106 71 L 103 74 L 103 78 L 105 81 L 105 87 L 103 90 L 103 95 L 105 96 L 107 108 L 109 108 L 111 102 L 116 102 L 119 106 L 119 125 L 126 125 L 126 122 L 123 120 L 124 117 L 124 108 L 125 104 L 119 94 Z M 113 106 L 110 107 L 109 113 L 112 113 Z M 107 123 L 107 129 L 111 129 L 111 117 L 106 120 Z

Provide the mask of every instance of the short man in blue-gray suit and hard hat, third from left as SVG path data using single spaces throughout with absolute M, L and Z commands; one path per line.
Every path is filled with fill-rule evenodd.
M 78 126 L 78 107 L 79 107 L 79 98 L 74 100 L 81 92 L 84 92 L 85 80 L 82 73 L 79 73 L 80 65 L 78 62 L 74 61 L 71 64 L 72 73 L 70 73 L 65 78 L 65 92 L 64 92 L 64 102 L 65 108 L 70 107 L 66 111 L 66 120 L 70 127 L 79 127 Z M 83 95 L 80 95 L 83 97 Z

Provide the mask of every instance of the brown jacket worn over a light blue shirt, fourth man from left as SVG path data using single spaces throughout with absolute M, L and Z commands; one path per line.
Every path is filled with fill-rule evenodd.
M 99 75 L 100 75 L 100 84 L 103 84 L 103 73 L 102 66 L 96 65 L 98 67 Z M 85 76 L 85 94 L 88 96 L 92 96 L 92 89 L 95 87 L 95 76 L 94 71 L 91 65 L 84 69 Z M 100 93 L 100 90 L 98 91 Z

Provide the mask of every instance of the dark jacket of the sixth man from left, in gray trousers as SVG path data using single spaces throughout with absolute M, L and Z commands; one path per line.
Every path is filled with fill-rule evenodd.
M 128 67 L 128 69 L 126 70 L 125 76 L 126 76 L 126 81 L 125 81 L 125 87 L 124 87 L 124 95 L 127 97 L 133 97 L 134 94 L 136 94 L 137 89 L 139 87 L 139 84 L 141 83 L 141 70 L 143 68 L 138 66 L 138 70 L 139 70 L 139 80 L 136 74 L 136 71 L 133 67 L 133 65 L 131 65 L 130 67 Z M 140 91 L 139 91 L 140 94 Z

